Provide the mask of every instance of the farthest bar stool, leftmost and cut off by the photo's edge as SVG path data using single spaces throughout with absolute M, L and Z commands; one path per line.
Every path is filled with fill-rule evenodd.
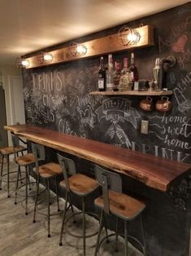
M 22 139 L 20 139 L 22 142 L 24 142 Z M 0 148 L 0 160 L 1 160 L 1 177 L 0 177 L 0 190 L 2 190 L 2 179 L 4 176 L 7 176 L 7 197 L 10 197 L 10 183 L 15 182 L 15 180 L 10 179 L 10 174 L 15 174 L 17 171 L 10 171 L 10 156 L 16 154 L 16 156 L 19 156 L 19 152 L 22 153 L 27 150 L 27 148 L 24 148 L 20 145 L 20 143 L 17 143 L 17 147 L 11 146 L 6 148 Z M 4 167 L 4 158 L 7 159 L 7 173 L 3 174 L 3 167 Z M 19 173 L 20 174 L 20 173 Z

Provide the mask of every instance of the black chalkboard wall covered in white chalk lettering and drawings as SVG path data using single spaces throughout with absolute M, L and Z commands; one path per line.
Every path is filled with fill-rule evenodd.
M 191 4 L 128 25 L 140 24 L 154 26 L 155 42 L 154 46 L 133 51 L 141 79 L 152 79 L 156 58 L 176 56 L 176 65 L 168 69 L 165 85 L 173 90 L 169 113 L 156 110 L 145 113 L 139 108 L 139 102 L 144 99 L 141 96 L 89 95 L 90 91 L 98 90 L 99 58 L 94 57 L 24 70 L 26 120 L 66 134 L 191 163 Z M 118 29 L 95 33 L 80 41 L 115 33 Z M 130 58 L 130 51 L 113 55 L 114 60 L 121 62 L 124 56 Z M 157 99 L 160 98 L 153 97 L 154 104 Z M 149 135 L 141 135 L 143 119 L 149 121 Z M 149 255 L 189 255 L 190 205 L 187 211 L 178 210 L 167 194 L 129 182 L 127 177 L 124 183 L 125 189 L 136 188 L 149 200 L 145 211 Z M 188 196 L 187 191 L 184 196 Z

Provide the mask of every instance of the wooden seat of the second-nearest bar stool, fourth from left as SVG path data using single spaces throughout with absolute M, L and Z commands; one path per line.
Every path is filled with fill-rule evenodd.
M 70 189 L 72 192 L 76 193 L 79 196 L 85 196 L 90 192 L 93 192 L 98 188 L 98 183 L 95 179 L 89 178 L 84 174 L 76 174 L 68 178 Z M 60 185 L 63 188 L 66 188 L 65 180 L 60 182 Z

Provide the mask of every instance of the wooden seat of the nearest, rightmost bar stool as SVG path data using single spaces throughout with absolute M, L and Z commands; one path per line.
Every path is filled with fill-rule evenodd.
M 119 218 L 132 219 L 135 218 L 142 210 L 145 209 L 145 203 L 137 200 L 132 196 L 124 193 L 117 193 L 109 190 L 108 193 L 110 201 L 111 214 L 117 215 Z M 103 197 L 100 196 L 95 199 L 95 205 L 104 208 Z

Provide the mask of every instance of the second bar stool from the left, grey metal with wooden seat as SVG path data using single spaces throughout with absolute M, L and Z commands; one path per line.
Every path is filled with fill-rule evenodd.
M 31 183 L 29 179 L 29 166 L 35 163 L 35 157 L 33 153 L 27 153 L 18 157 L 16 155 L 16 148 L 19 147 L 20 138 L 13 134 L 11 135 L 11 137 L 12 137 L 12 144 L 14 148 L 14 161 L 18 165 L 18 173 L 17 173 L 17 180 L 16 180 L 16 188 L 15 188 L 15 205 L 17 204 L 17 195 L 18 195 L 18 192 L 20 191 L 20 188 L 23 188 L 25 186 L 25 195 L 24 195 L 25 196 L 25 214 L 28 215 L 28 185 L 29 185 L 29 189 L 31 189 Z M 21 167 L 24 167 L 25 169 L 25 183 L 19 186 L 19 181 L 20 181 L 19 175 L 21 173 Z

